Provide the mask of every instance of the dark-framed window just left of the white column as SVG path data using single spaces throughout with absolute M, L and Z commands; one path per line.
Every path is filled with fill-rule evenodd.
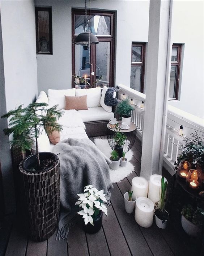
M 144 93 L 145 43 L 133 42 L 131 50 L 130 88 Z

